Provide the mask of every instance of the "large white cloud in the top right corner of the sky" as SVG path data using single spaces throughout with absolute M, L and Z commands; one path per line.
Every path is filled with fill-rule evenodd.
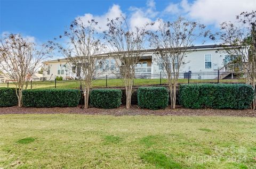
M 196 19 L 204 24 L 219 26 L 225 21 L 234 21 L 236 15 L 243 11 L 255 10 L 255 0 L 195 0 L 189 4 L 187 0 L 165 8 L 165 12 L 179 13 Z

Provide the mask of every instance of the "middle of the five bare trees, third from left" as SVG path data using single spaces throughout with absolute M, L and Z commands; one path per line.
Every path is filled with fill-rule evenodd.
M 108 30 L 104 31 L 105 39 L 109 49 L 113 52 L 109 55 L 118 60 L 116 66 L 119 75 L 124 80 L 126 108 L 130 108 L 135 66 L 142 56 L 141 50 L 147 35 L 146 25 L 141 28 L 131 28 L 127 19 L 121 16 L 116 19 L 108 19 L 107 26 Z

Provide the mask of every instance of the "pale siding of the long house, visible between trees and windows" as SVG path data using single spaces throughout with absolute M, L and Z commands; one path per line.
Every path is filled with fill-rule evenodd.
M 212 55 L 212 67 L 211 69 L 205 69 L 205 54 L 211 54 Z M 220 69 L 221 67 L 223 67 L 223 59 L 224 59 L 224 55 L 226 54 L 226 52 L 224 50 L 217 50 L 216 49 L 198 49 L 197 51 L 193 51 L 193 52 L 189 52 L 187 54 L 187 56 L 184 59 L 185 64 L 181 66 L 180 68 L 180 72 L 181 72 L 181 77 L 183 77 L 183 72 L 212 72 L 212 71 L 216 71 L 217 69 Z M 158 62 L 157 62 L 157 56 L 155 53 L 145 53 L 143 54 L 143 56 L 149 56 L 151 57 L 152 60 L 152 64 L 151 64 L 151 73 L 160 73 L 161 71 L 163 72 L 163 70 L 159 70 L 159 66 L 158 66 Z M 108 59 L 111 59 L 113 57 L 109 57 Z M 106 58 L 105 58 L 106 59 Z M 47 78 L 47 80 L 50 79 L 53 80 L 55 77 L 57 76 L 62 76 L 63 79 L 66 78 L 66 74 L 58 74 L 58 65 L 59 64 L 66 64 L 67 61 L 49 61 L 47 62 L 47 64 L 44 64 L 44 72 L 43 75 L 44 77 Z M 116 64 L 120 64 L 120 62 L 118 60 L 116 60 Z M 215 64 L 215 65 L 214 65 Z M 51 66 L 51 70 L 50 70 L 50 74 L 47 74 L 47 66 L 50 65 Z M 68 75 L 71 71 L 71 66 L 70 69 L 68 71 Z M 118 71 L 101 71 L 98 70 L 95 74 L 96 77 L 103 77 L 103 76 L 115 76 L 117 75 Z M 51 76 L 52 75 L 52 76 Z M 199 75 L 198 75 L 199 76 Z M 193 77 L 196 78 L 196 77 Z M 202 79 L 205 79 L 205 77 L 201 77 Z M 212 77 L 215 78 L 215 77 Z

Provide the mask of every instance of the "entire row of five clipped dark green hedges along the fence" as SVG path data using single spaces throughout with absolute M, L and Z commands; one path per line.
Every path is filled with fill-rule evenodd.
M 22 92 L 25 107 L 75 107 L 81 99 L 76 89 L 28 89 Z M 137 90 L 141 108 L 166 108 L 169 91 L 165 87 L 140 87 Z M 244 84 L 185 84 L 179 88 L 179 102 L 187 108 L 249 108 L 254 98 L 253 88 Z M 93 107 L 116 108 L 122 102 L 119 89 L 94 89 L 90 94 Z M 18 104 L 14 88 L 0 88 L 0 107 Z

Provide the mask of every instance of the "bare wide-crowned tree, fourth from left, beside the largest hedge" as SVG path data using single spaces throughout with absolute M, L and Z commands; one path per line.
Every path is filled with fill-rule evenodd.
M 173 22 L 158 20 L 159 28 L 149 33 L 150 46 L 156 48 L 156 62 L 162 64 L 167 75 L 171 108 L 175 108 L 176 87 L 185 57 L 199 38 L 209 33 L 203 24 L 179 17 Z M 155 24 L 155 23 L 151 23 Z

